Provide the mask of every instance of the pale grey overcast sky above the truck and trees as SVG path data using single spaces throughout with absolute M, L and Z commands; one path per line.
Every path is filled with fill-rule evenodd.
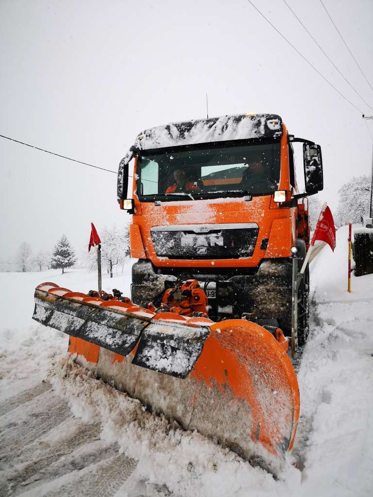
M 373 86 L 373 1 L 323 0 Z M 247 0 L 1 0 L 0 134 L 117 170 L 144 128 L 245 112 L 280 114 L 319 143 L 323 200 L 370 174 L 373 111 L 327 61 L 282 0 L 253 0 L 359 110 L 322 80 Z M 373 107 L 319 0 L 287 0 Z M 373 133 L 373 121 L 369 121 Z M 120 225 L 116 174 L 0 138 L 0 261 L 62 233 L 80 251 L 90 223 Z

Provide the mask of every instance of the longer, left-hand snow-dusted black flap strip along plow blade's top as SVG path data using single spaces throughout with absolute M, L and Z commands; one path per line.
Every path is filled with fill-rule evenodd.
M 35 291 L 32 319 L 70 336 L 83 338 L 121 355 L 136 345 L 141 331 L 148 326 L 132 314 Z

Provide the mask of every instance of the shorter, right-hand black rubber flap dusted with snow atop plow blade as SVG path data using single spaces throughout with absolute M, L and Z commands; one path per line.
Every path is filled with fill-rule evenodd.
M 151 323 L 141 335 L 132 363 L 185 378 L 200 356 L 209 331 L 207 327 L 192 328 L 176 322 Z

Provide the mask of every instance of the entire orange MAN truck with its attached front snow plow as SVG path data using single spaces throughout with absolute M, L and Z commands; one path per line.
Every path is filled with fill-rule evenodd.
M 303 193 L 293 142 L 303 142 Z M 306 197 L 322 188 L 320 147 L 289 135 L 278 115 L 146 129 L 117 182 L 138 259 L 131 299 L 42 283 L 33 318 L 68 333 L 77 362 L 151 412 L 271 470 L 291 449 L 298 421 L 288 356 L 292 254 L 300 267 Z M 308 271 L 297 296 L 303 344 Z

